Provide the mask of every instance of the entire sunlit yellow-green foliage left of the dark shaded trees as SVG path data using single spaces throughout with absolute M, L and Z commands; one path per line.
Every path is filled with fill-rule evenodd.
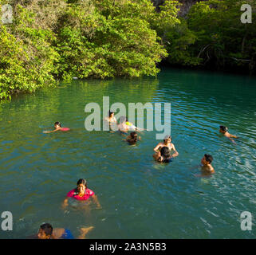
M 152 29 L 156 10 L 147 0 L 10 4 L 14 22 L 1 25 L 1 98 L 57 79 L 156 76 L 156 63 L 167 57 Z

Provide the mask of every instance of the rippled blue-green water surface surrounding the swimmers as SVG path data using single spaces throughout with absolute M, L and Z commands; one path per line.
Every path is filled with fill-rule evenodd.
M 256 78 L 164 69 L 157 78 L 73 80 L 59 88 L 0 104 L 0 213 L 14 216 L 14 230 L 0 238 L 24 238 L 42 222 L 88 238 L 255 238 Z M 85 130 L 85 104 L 171 102 L 171 135 L 179 156 L 163 166 L 152 159 L 156 131 L 144 131 L 136 147 L 118 133 Z M 43 134 L 60 121 L 69 132 Z M 219 125 L 238 135 L 219 135 Z M 215 175 L 198 178 L 204 153 Z M 194 168 L 193 168 L 194 167 Z M 102 206 L 84 210 L 65 194 L 85 178 Z M 240 214 L 253 215 L 251 231 Z M 0 219 L 1 220 L 1 219 Z

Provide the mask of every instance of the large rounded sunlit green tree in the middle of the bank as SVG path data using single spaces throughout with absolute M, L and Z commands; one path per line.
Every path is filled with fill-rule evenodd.
M 157 42 L 156 31 L 136 12 L 139 5 L 126 1 L 104 7 L 109 4 L 103 1 L 92 14 L 82 6 L 67 10 L 57 44 L 61 77 L 141 77 L 159 72 L 156 62 L 167 53 Z

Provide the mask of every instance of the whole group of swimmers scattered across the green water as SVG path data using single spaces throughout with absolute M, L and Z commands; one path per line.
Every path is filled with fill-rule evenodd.
M 104 120 L 109 124 L 109 127 L 112 130 L 116 130 L 114 128 L 117 128 L 117 130 L 120 131 L 122 134 L 127 135 L 126 139 L 124 140 L 127 141 L 128 144 L 130 145 L 135 145 L 137 141 L 140 140 L 140 136 L 137 134 L 136 131 L 140 132 L 144 130 L 143 128 L 137 128 L 134 124 L 130 123 L 125 116 L 121 116 L 120 123 L 117 124 L 114 112 L 109 111 L 108 117 L 106 117 Z M 114 125 L 116 127 L 114 127 Z M 70 128 L 62 128 L 59 122 L 56 122 L 54 124 L 54 128 L 55 129 L 53 131 L 44 131 L 44 133 L 70 130 Z M 128 131 L 132 132 L 128 135 Z M 219 132 L 225 135 L 227 138 L 229 138 L 233 143 L 233 138 L 238 138 L 238 136 L 236 135 L 231 135 L 228 132 L 228 128 L 224 126 L 219 126 Z M 155 154 L 152 156 L 157 162 L 160 163 L 170 163 L 172 158 L 175 158 L 179 155 L 179 152 L 176 151 L 174 144 L 171 143 L 171 135 L 165 136 L 163 142 L 158 143 L 154 148 L 154 151 Z M 172 155 L 171 151 L 174 151 Z M 211 166 L 212 161 L 213 157 L 211 155 L 205 154 L 203 156 L 203 159 L 201 159 L 201 169 L 204 173 L 210 175 L 215 173 L 214 168 Z M 94 194 L 93 190 L 89 190 L 85 179 L 79 179 L 77 182 L 77 187 L 73 190 L 70 190 L 69 193 L 66 195 L 66 198 L 62 203 L 62 208 L 68 206 L 68 198 L 74 198 L 80 201 L 85 201 L 88 200 L 90 197 L 93 198 L 93 201 L 96 203 L 97 208 L 101 208 L 100 202 L 98 201 L 96 194 Z M 93 226 L 90 226 L 88 228 L 81 228 L 81 234 L 77 238 L 85 238 L 86 233 L 89 233 L 90 230 L 93 230 Z M 51 226 L 49 223 L 45 223 L 40 226 L 40 229 L 37 233 L 37 237 L 40 239 L 70 239 L 73 238 L 73 235 L 70 232 L 70 230 L 60 228 L 56 228 L 53 230 L 53 226 Z

